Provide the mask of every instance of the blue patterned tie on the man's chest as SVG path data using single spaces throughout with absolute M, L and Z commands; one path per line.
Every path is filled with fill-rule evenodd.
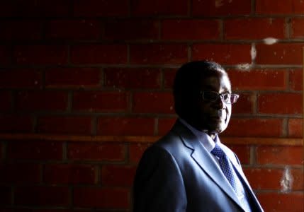
M 241 204 L 244 206 L 245 210 L 251 211 L 249 203 L 246 198 L 246 194 L 244 192 L 244 187 L 242 186 L 242 182 L 240 181 L 239 177 L 237 177 L 237 173 L 235 172 L 227 155 L 224 153 L 222 148 L 218 146 L 218 144 L 215 144 L 215 148 L 213 148 L 211 153 L 213 153 L 213 155 L 218 157 L 220 168 L 222 169 L 225 177 L 228 179 L 228 182 L 230 182 L 232 188 L 235 190 L 235 193 L 240 199 Z

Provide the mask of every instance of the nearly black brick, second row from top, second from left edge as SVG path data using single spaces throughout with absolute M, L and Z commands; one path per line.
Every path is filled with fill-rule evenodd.
M 98 40 L 101 36 L 101 23 L 92 19 L 56 19 L 47 23 L 46 33 L 50 39 Z

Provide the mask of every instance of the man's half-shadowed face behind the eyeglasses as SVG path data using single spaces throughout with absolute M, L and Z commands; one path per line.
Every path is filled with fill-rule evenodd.
M 201 90 L 219 94 L 231 93 L 231 85 L 227 76 L 218 74 L 203 79 Z M 194 121 L 196 128 L 218 134 L 227 128 L 231 116 L 231 104 L 223 102 L 222 98 L 218 98 L 214 102 L 199 98 L 193 109 L 197 114 L 197 117 L 193 117 L 196 120 Z

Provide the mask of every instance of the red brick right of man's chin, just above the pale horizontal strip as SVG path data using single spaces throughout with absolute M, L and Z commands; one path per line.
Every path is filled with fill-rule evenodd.
M 242 126 L 242 130 L 240 130 Z M 271 130 L 269 130 L 271 126 Z M 231 119 L 224 136 L 279 137 L 282 134 L 282 119 Z

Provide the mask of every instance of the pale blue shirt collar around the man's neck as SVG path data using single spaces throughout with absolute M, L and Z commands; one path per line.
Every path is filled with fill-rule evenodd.
M 203 144 L 207 151 L 211 152 L 213 148 L 215 148 L 215 143 L 218 143 L 220 145 L 220 138 L 218 137 L 218 134 L 215 135 L 215 139 L 213 141 L 213 139 L 211 139 L 211 137 L 206 134 L 205 131 L 199 131 L 198 129 L 195 129 L 184 119 L 181 119 L 181 117 L 179 117 L 179 121 L 181 122 L 181 124 L 184 124 L 198 138 L 198 140 Z

